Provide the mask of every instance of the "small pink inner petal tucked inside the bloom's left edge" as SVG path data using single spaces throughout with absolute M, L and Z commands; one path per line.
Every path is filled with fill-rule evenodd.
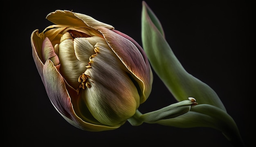
M 44 39 L 42 44 L 42 56 L 43 56 L 43 61 L 50 59 L 55 66 L 60 64 L 58 56 L 54 52 L 54 47 L 52 46 L 52 43 L 48 37 Z

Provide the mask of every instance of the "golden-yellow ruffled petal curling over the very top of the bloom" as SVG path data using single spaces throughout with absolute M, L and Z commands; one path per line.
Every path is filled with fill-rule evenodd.
M 55 12 L 49 13 L 46 18 L 54 24 L 60 25 L 70 25 L 87 28 L 88 26 L 91 28 L 103 26 L 108 29 L 114 29 L 113 26 L 105 24 L 103 22 L 99 22 L 88 15 L 73 13 L 67 10 L 56 10 Z

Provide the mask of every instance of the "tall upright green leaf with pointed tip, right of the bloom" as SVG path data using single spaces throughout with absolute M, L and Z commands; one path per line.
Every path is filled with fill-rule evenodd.
M 182 67 L 164 38 L 159 20 L 146 2 L 142 4 L 141 38 L 153 70 L 177 101 L 194 97 L 198 104 L 209 104 L 226 111 L 216 92 Z

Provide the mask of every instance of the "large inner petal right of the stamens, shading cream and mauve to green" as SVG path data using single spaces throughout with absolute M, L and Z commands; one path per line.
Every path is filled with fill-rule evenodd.
M 135 114 L 139 94 L 129 71 L 109 46 L 101 44 L 97 48 L 99 53 L 92 58 L 92 68 L 85 71 L 91 87 L 82 90 L 80 99 L 99 122 L 118 125 Z

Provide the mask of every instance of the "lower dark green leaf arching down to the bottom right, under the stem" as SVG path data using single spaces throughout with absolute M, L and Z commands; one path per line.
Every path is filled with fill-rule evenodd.
M 196 105 L 186 114 L 154 123 L 180 128 L 211 127 L 221 131 L 234 146 L 244 146 L 233 118 L 225 111 L 212 105 Z

